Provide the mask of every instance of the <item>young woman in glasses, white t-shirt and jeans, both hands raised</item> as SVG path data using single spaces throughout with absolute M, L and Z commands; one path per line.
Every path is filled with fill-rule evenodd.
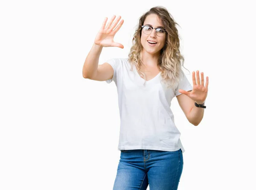
M 103 47 L 123 48 L 113 41 L 123 24 L 120 19 L 113 16 L 106 26 L 105 18 L 83 66 L 84 78 L 114 81 L 118 91 L 121 155 L 113 190 L 146 190 L 148 184 L 150 190 L 176 190 L 184 148 L 171 100 L 176 96 L 188 121 L 198 125 L 206 108 L 208 77 L 204 85 L 204 74 L 200 79 L 199 71 L 196 77 L 193 72 L 190 85 L 181 68 L 177 23 L 160 6 L 140 17 L 128 58 L 98 65 Z

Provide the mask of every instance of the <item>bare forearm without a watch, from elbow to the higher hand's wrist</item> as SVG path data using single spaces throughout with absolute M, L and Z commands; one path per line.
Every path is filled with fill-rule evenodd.
M 102 46 L 96 45 L 93 43 L 93 47 L 88 53 L 83 66 L 83 77 L 87 78 L 92 76 L 98 68 L 99 56 L 102 52 Z

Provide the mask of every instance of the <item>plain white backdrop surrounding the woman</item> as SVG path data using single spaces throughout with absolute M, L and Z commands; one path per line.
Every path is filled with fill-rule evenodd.
M 139 17 L 153 6 L 165 6 L 180 25 L 191 84 L 192 71 L 209 77 L 198 126 L 172 100 L 186 150 L 178 189 L 256 189 L 252 3 L 142 2 L 1 1 L 1 190 L 113 188 L 120 158 L 116 85 L 84 79 L 82 67 L 104 17 L 124 19 L 114 38 L 124 49 L 103 48 L 99 64 L 128 57 Z

